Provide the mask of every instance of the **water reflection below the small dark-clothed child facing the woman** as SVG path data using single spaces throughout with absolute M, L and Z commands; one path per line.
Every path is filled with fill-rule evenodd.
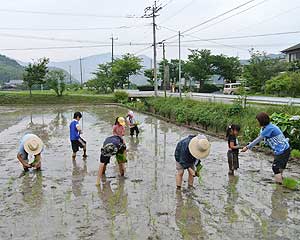
M 225 213 L 230 223 L 234 223 L 238 220 L 238 215 L 235 212 L 235 205 L 237 203 L 239 193 L 237 191 L 237 184 L 239 181 L 238 176 L 229 176 L 227 191 L 227 201 L 225 205 Z

